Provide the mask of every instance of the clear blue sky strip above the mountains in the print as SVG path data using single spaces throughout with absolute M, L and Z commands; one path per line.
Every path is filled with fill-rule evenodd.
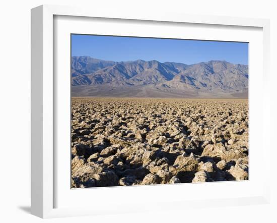
M 248 65 L 248 43 L 72 34 L 72 56 L 107 61 L 196 64 L 211 60 Z

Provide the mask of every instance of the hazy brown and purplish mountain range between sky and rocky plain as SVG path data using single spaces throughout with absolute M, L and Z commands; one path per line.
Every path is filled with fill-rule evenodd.
M 248 66 L 72 57 L 72 96 L 247 98 Z

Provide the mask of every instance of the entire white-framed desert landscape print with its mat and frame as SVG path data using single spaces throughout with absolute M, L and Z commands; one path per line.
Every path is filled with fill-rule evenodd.
M 31 17 L 32 214 L 269 202 L 268 20 Z

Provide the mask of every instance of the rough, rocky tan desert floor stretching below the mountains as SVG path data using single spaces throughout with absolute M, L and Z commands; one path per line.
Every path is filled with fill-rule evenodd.
M 72 98 L 72 188 L 247 179 L 247 99 Z

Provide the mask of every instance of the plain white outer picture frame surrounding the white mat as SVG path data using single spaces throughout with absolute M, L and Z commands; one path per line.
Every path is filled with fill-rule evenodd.
M 92 11 L 86 8 L 76 7 L 61 7 L 43 5 L 32 9 L 31 11 L 31 213 L 39 217 L 61 217 L 61 216 L 79 216 L 79 215 L 94 215 L 118 213 L 119 209 L 103 209 L 99 205 L 95 207 L 56 207 L 55 198 L 56 194 L 56 174 L 55 165 L 58 161 L 55 157 L 55 122 L 58 116 L 55 115 L 56 111 L 56 98 L 55 98 L 55 42 L 54 42 L 54 25 L 55 16 L 71 16 L 80 18 L 109 18 L 120 20 L 135 20 L 150 22 L 170 22 L 170 24 L 190 24 L 191 26 L 202 24 L 204 25 L 217 25 L 218 27 L 239 27 L 241 30 L 244 27 L 260 28 L 262 32 L 262 80 L 263 80 L 263 94 L 262 100 L 262 131 L 265 137 L 265 129 L 269 129 L 269 21 L 265 19 L 248 19 L 248 18 L 234 18 L 234 17 L 215 17 L 215 16 L 195 16 L 185 14 L 173 13 L 128 13 L 126 11 L 105 11 L 97 9 Z M 68 55 L 68 58 L 70 55 Z M 251 67 L 250 67 L 251 69 Z M 251 77 L 250 77 L 251 78 Z M 250 85 L 251 88 L 251 85 Z M 251 110 L 250 110 L 251 113 Z M 251 119 L 250 119 L 251 120 Z M 250 125 L 251 126 L 251 125 Z M 250 127 L 251 132 L 251 127 Z M 251 134 L 251 133 L 250 133 Z M 269 153 L 269 142 L 262 140 L 263 155 Z M 254 156 L 253 156 L 254 157 Z M 68 162 L 70 160 L 68 159 Z M 251 160 L 250 160 L 251 162 Z M 253 161 L 254 163 L 254 161 Z M 263 167 L 264 176 L 261 178 L 262 186 L 259 187 L 257 194 L 252 196 L 239 196 L 232 198 L 215 199 L 196 197 L 190 199 L 189 202 L 180 196 L 179 200 L 168 199 L 165 202 L 171 203 L 171 208 L 185 208 L 185 207 L 205 207 L 209 206 L 232 206 L 232 205 L 247 205 L 247 204 L 263 204 L 269 202 L 269 162 L 264 162 Z M 251 175 L 250 175 L 251 176 Z M 69 181 L 69 180 L 68 180 Z M 250 180 L 251 181 L 251 178 Z M 242 183 L 242 182 L 240 182 Z M 182 185 L 169 185 L 183 187 Z M 233 186 L 233 185 L 229 185 Z M 141 187 L 144 192 L 151 191 L 153 187 Z M 201 187 L 190 185 L 190 187 Z M 128 193 L 138 191 L 138 187 L 123 188 Z M 87 190 L 87 189 L 86 189 Z M 87 193 L 82 190 L 83 194 Z M 91 189 L 88 189 L 92 192 Z M 97 189 L 99 191 L 99 189 Z M 103 189 L 102 189 L 103 190 Z M 108 190 L 115 190 L 114 188 L 104 189 L 106 193 Z M 117 189 L 116 189 L 117 190 Z M 121 189 L 122 190 L 122 189 Z M 155 189 L 156 190 L 156 189 Z M 79 190 L 80 191 L 80 190 Z M 90 193 L 91 193 L 90 192 Z M 138 192 L 138 194 L 142 193 Z M 183 199 L 183 200 L 182 200 Z M 201 203 L 199 204 L 199 201 Z M 130 201 L 132 202 L 132 201 Z M 151 205 L 142 206 L 127 204 L 125 208 L 121 208 L 123 212 L 137 212 L 145 210 L 163 210 L 168 207 L 163 201 L 157 201 L 156 206 Z M 123 205 L 123 204 L 120 204 Z

